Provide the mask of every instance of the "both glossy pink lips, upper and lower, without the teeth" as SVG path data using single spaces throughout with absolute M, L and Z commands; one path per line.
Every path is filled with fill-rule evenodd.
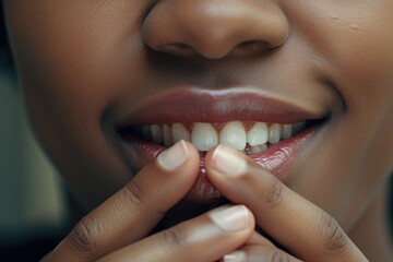
M 124 147 L 127 158 L 131 160 L 132 166 L 140 169 L 166 147 L 144 141 L 132 132 L 122 132 L 129 127 L 230 120 L 296 123 L 322 119 L 323 116 L 322 112 L 306 110 L 301 106 L 258 94 L 230 93 L 212 96 L 211 94 L 176 92 L 157 99 L 150 99 L 134 108 L 132 114 L 119 121 L 117 127 L 121 132 L 122 147 Z M 290 174 L 294 174 L 290 167 L 314 132 L 314 128 L 309 128 L 296 136 L 282 141 L 262 153 L 250 155 L 250 157 L 279 179 L 286 180 Z M 207 180 L 204 159 L 201 157 L 199 177 L 186 199 L 193 202 L 212 203 L 219 198 L 222 198 L 221 193 Z

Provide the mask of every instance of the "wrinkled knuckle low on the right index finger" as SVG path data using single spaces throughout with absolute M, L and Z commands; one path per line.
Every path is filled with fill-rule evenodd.
M 322 243 L 329 253 L 342 253 L 348 246 L 348 239 L 344 230 L 330 214 L 323 213 L 322 219 Z

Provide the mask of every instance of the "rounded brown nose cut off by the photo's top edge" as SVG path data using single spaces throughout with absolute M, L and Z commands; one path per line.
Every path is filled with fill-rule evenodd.
M 145 44 L 176 56 L 221 59 L 281 46 L 288 21 L 271 0 L 162 0 L 143 24 Z

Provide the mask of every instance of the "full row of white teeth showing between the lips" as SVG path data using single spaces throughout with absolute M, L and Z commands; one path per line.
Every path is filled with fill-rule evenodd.
M 184 140 L 191 141 L 201 152 L 209 151 L 221 143 L 248 154 L 258 154 L 281 140 L 294 136 L 305 128 L 305 121 L 296 124 L 271 123 L 269 126 L 265 122 L 255 122 L 251 129 L 246 131 L 241 121 L 231 121 L 217 131 L 219 128 L 216 129 L 212 123 L 195 122 L 190 132 L 182 123 L 172 123 L 171 126 L 164 123 L 142 127 L 141 134 L 145 140 L 165 146 L 171 146 L 174 143 Z

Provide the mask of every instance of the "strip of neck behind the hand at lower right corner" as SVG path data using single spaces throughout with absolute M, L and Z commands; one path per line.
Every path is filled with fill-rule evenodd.
M 377 195 L 349 237 L 370 261 L 392 261 L 393 241 L 389 222 L 389 183 Z

